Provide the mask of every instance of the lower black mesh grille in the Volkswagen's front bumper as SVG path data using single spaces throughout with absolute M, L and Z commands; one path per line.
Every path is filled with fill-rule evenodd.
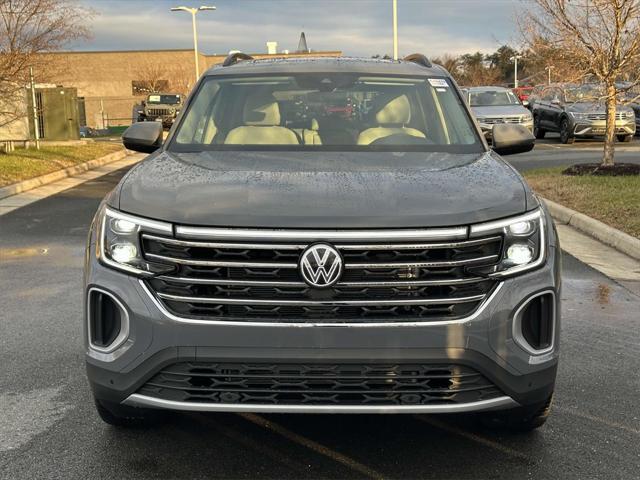
M 462 365 L 207 362 L 166 367 L 138 393 L 177 402 L 272 405 L 456 404 L 503 395 Z

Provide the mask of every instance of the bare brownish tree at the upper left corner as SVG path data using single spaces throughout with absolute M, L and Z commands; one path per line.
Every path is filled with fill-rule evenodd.
M 23 117 L 29 67 L 45 79 L 42 53 L 86 38 L 91 11 L 73 0 L 0 0 L 0 126 Z

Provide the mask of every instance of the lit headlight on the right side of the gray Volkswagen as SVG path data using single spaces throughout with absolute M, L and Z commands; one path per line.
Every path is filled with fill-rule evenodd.
M 507 277 L 540 266 L 546 255 L 545 219 L 541 209 L 518 217 L 471 226 L 471 238 L 501 234 L 504 242 L 500 261 L 473 272 L 487 277 Z

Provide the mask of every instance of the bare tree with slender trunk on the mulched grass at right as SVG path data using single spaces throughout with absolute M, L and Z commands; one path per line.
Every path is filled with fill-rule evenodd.
M 531 47 L 544 42 L 582 78 L 604 87 L 607 127 L 602 164 L 614 164 L 616 104 L 622 92 L 640 83 L 640 2 L 638 0 L 532 0 L 521 25 Z M 619 80 L 628 80 L 622 86 Z

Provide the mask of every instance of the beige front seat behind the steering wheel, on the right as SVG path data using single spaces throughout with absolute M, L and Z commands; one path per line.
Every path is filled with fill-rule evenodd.
M 411 135 L 426 138 L 424 132 L 406 127 L 411 121 L 411 105 L 406 95 L 394 96 L 386 100 L 376 112 L 377 127 L 368 128 L 358 136 L 358 145 L 369 145 L 380 138 L 391 135 Z

